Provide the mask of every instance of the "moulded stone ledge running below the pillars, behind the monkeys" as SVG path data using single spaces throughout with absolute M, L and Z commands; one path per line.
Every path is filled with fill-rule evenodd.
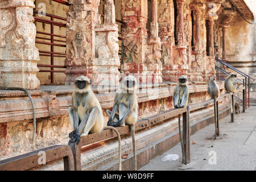
M 141 85 L 137 93 L 138 102 L 146 102 L 167 98 L 173 96 L 175 84 L 160 84 L 158 88 Z M 147 89 L 146 89 L 147 88 Z M 146 92 L 142 92 L 145 89 Z M 220 85 L 220 89 L 223 89 Z M 115 93 L 98 93 L 93 88 L 100 101 L 102 109 L 109 109 L 114 104 Z M 40 90 L 30 91 L 34 98 L 36 118 L 58 116 L 68 113 L 68 107 L 71 106 L 73 86 L 41 86 Z M 106 90 L 105 90 L 106 91 Z M 206 92 L 206 84 L 190 84 L 190 93 Z M 23 119 L 32 119 L 32 106 L 26 93 L 22 91 L 0 90 L 0 123 L 22 121 Z

